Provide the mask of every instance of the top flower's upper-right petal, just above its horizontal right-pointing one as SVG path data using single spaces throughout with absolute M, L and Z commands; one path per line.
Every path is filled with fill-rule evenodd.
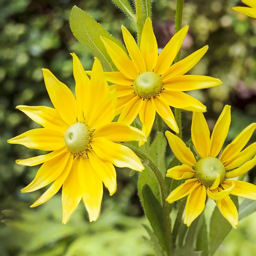
M 201 60 L 201 58 L 207 52 L 208 48 L 208 45 L 206 45 L 201 49 L 197 50 L 196 52 L 193 52 L 183 60 L 178 61 L 177 63 L 169 67 L 169 69 L 166 70 L 166 72 L 161 76 L 163 84 L 166 80 L 173 76 L 180 76 L 186 74 L 189 70 L 192 69 L 192 67 L 194 67 L 198 63 L 198 61 Z

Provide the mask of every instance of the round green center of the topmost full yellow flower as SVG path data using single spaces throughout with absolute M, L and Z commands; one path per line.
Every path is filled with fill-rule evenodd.
M 153 98 L 163 89 L 162 80 L 154 72 L 143 72 L 134 80 L 133 88 L 143 99 Z

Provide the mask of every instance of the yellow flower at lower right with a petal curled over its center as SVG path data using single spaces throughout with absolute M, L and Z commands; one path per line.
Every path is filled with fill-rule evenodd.
M 208 196 L 215 200 L 218 209 L 232 227 L 238 224 L 238 213 L 229 194 L 256 200 L 256 186 L 240 180 L 238 177 L 256 165 L 256 143 L 243 149 L 256 123 L 248 125 L 224 148 L 218 157 L 230 127 L 230 106 L 226 105 L 219 116 L 210 137 L 207 122 L 202 113 L 193 113 L 191 134 L 192 142 L 200 156 L 195 157 L 185 143 L 177 136 L 166 131 L 166 137 L 173 153 L 182 163 L 167 170 L 167 177 L 176 180 L 188 179 L 174 189 L 166 201 L 170 204 L 188 195 L 184 224 L 188 227 L 204 210 Z M 253 157 L 252 160 L 250 160 Z

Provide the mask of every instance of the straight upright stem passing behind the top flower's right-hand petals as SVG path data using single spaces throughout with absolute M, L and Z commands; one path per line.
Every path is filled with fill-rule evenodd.
M 176 0 L 176 13 L 175 13 L 175 33 L 177 33 L 182 26 L 182 15 L 183 15 L 184 0 Z M 174 60 L 174 63 L 180 61 L 180 51 Z M 179 128 L 179 133 L 177 134 L 180 139 L 182 139 L 182 122 L 181 122 L 181 110 L 180 108 L 175 108 L 175 119 Z

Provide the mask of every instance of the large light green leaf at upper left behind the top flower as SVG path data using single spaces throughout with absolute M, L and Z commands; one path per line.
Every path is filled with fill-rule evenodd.
M 70 28 L 74 36 L 84 44 L 93 53 L 93 55 L 99 58 L 106 71 L 116 70 L 116 67 L 111 61 L 100 36 L 102 35 L 110 39 L 123 49 L 125 48 L 116 38 L 110 35 L 101 24 L 97 23 L 93 17 L 77 6 L 73 6 L 70 14 Z

